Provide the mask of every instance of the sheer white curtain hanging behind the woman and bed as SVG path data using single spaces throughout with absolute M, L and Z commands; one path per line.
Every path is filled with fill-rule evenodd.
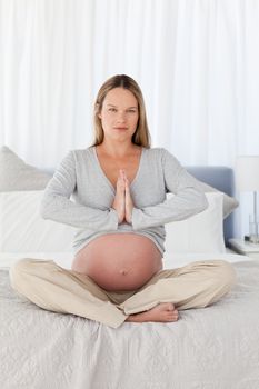
M 0 146 L 53 168 L 92 141 L 101 83 L 140 84 L 183 164 L 259 153 L 258 0 L 0 0 Z

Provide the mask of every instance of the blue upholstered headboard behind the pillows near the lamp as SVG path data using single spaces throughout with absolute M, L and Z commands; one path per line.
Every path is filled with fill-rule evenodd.
M 198 180 L 208 183 L 211 187 L 233 197 L 235 180 L 233 170 L 228 167 L 186 167 L 188 172 Z M 225 242 L 233 237 L 233 217 L 228 216 L 223 221 Z

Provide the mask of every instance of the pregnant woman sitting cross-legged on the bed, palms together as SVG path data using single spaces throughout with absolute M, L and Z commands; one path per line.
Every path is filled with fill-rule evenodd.
M 201 212 L 207 199 L 169 151 L 150 148 L 132 78 L 114 76 L 100 88 L 94 133 L 93 146 L 63 158 L 41 203 L 44 219 L 78 228 L 71 270 L 23 258 L 10 270 L 12 287 L 43 309 L 113 328 L 176 321 L 179 310 L 226 295 L 236 278 L 226 261 L 162 269 L 165 223 Z

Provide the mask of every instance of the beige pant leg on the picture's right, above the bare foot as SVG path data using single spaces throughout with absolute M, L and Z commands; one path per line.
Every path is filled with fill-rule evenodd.
M 173 302 L 179 310 L 202 308 L 219 300 L 236 281 L 230 263 L 197 261 L 182 268 L 160 270 L 120 307 L 126 315 L 149 310 L 159 302 Z

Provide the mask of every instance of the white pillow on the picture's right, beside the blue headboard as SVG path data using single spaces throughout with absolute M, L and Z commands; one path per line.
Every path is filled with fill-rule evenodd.
M 168 197 L 173 194 L 169 193 Z M 165 258 L 175 253 L 226 252 L 223 241 L 222 192 L 206 193 L 206 210 L 186 220 L 167 223 Z

